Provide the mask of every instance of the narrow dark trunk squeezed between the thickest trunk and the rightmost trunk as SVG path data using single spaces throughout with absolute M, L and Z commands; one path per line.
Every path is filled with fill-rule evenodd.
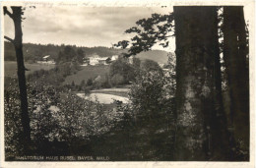
M 220 46 L 218 35 L 218 14 L 217 9 L 214 9 L 214 54 L 215 54 L 215 66 L 214 66 L 214 95 L 215 95 L 215 112 L 212 116 L 211 125 L 213 131 L 213 158 L 214 160 L 226 160 L 229 159 L 229 134 L 227 132 L 227 120 L 224 113 L 224 101 L 222 95 L 222 73 L 221 73 L 221 58 L 220 58 Z

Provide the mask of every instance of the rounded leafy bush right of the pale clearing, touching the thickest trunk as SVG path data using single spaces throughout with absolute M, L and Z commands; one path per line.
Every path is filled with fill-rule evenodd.
M 175 85 L 172 81 L 175 79 L 169 73 L 164 73 L 158 63 L 145 60 L 129 92 L 132 108 L 137 115 L 153 119 L 160 113 L 174 112 L 172 91 Z

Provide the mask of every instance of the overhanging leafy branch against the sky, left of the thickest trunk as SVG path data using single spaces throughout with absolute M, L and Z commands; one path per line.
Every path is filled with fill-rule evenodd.
M 125 30 L 125 33 L 136 33 L 131 41 L 122 40 L 114 44 L 115 47 L 127 48 L 130 45 L 126 57 L 136 55 L 142 51 L 149 51 L 156 43 L 160 42 L 162 47 L 168 46 L 168 37 L 173 36 L 174 16 L 152 14 L 151 18 L 142 19 L 136 22 L 137 27 Z

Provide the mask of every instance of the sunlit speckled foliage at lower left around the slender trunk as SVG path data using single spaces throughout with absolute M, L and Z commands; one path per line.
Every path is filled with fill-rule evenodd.
M 10 159 L 23 154 L 23 146 L 18 85 L 15 81 L 9 83 L 5 88 L 5 150 L 6 157 Z M 67 147 L 71 147 L 74 140 L 87 141 L 113 127 L 116 113 L 104 109 L 98 102 L 80 98 L 72 92 L 63 91 L 61 87 L 28 85 L 34 153 L 49 154 L 61 150 L 56 145 L 49 150 L 44 148 L 53 142 L 65 142 Z

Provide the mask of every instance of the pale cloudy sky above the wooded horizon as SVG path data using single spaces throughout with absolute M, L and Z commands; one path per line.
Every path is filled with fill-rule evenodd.
M 124 31 L 136 26 L 136 21 L 149 18 L 154 13 L 169 14 L 170 12 L 172 8 L 160 7 L 26 8 L 23 40 L 41 44 L 64 43 L 88 47 L 111 47 L 120 40 L 134 36 Z M 7 16 L 5 16 L 4 24 L 4 34 L 13 37 L 13 22 Z M 162 47 L 156 46 L 154 49 L 162 49 Z

